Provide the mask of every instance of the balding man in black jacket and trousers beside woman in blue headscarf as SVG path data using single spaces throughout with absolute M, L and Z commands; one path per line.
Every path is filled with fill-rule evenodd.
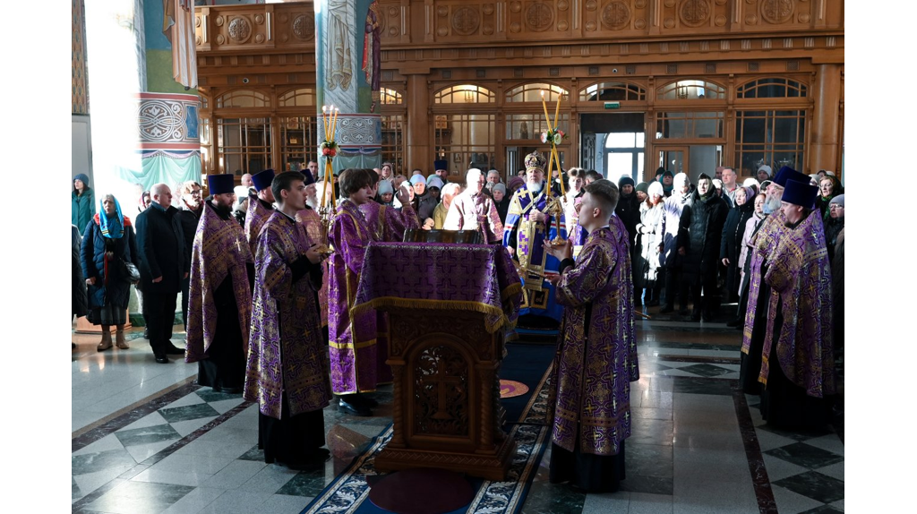
M 166 355 L 184 355 L 170 339 L 178 292 L 191 266 L 184 258 L 184 231 L 175 215 L 178 209 L 171 206 L 169 186 L 156 184 L 149 192 L 153 202 L 137 216 L 143 318 L 149 326 L 149 345 L 156 362 L 168 364 Z

